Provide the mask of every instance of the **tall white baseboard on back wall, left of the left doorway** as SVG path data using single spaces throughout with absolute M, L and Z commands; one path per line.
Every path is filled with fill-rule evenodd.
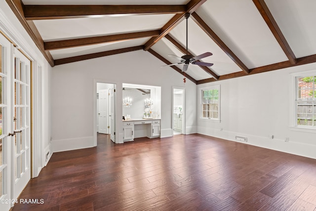
M 58 140 L 53 139 L 51 141 L 51 148 L 53 152 L 63 152 L 90 147 L 93 147 L 93 136 Z

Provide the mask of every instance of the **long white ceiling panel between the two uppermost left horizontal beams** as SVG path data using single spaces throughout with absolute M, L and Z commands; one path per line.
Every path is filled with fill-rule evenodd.
M 34 23 L 43 41 L 48 42 L 157 30 L 172 16 L 172 14 L 107 16 L 98 18 L 35 20 Z

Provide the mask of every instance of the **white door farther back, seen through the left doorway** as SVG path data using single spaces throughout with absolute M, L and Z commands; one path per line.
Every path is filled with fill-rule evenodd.
M 108 89 L 99 90 L 99 133 L 108 134 L 109 124 L 108 124 Z

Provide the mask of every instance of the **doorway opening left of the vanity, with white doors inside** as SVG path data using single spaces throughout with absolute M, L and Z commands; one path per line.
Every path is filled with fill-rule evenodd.
M 98 137 L 105 135 L 115 143 L 116 84 L 95 81 L 94 87 L 94 146 L 97 146 Z

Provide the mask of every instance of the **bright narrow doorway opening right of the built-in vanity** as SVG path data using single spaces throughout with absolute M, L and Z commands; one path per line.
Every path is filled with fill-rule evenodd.
M 185 134 L 185 88 L 172 88 L 172 134 Z

